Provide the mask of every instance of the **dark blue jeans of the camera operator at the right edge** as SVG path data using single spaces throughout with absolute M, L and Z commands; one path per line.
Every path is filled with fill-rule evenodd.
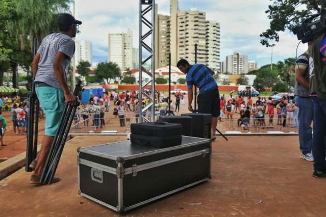
M 326 99 L 312 97 L 314 105 L 314 132 L 312 137 L 312 154 L 314 170 L 326 170 L 325 137 L 326 137 Z

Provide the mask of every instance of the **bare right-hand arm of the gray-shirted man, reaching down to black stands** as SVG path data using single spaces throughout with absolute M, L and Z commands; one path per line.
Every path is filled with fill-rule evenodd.
M 64 92 L 65 101 L 68 104 L 75 105 L 76 97 L 72 95 L 72 93 L 70 92 L 70 90 L 68 88 L 68 85 L 67 85 L 67 82 L 65 79 L 65 75 L 64 75 L 65 72 L 62 67 L 62 63 L 65 61 L 66 58 L 67 58 L 67 56 L 63 52 L 58 51 L 57 56 L 53 62 L 53 68 L 54 68 L 57 80 Z

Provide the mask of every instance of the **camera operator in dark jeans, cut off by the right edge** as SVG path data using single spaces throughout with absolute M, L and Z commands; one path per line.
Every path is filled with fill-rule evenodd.
M 312 154 L 314 156 L 313 176 L 326 177 L 326 37 L 315 38 L 309 47 L 309 91 L 314 109 Z

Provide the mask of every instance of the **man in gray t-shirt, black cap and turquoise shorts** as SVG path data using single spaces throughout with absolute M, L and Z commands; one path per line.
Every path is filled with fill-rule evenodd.
M 60 33 L 46 36 L 32 62 L 35 91 L 45 113 L 45 136 L 42 148 L 30 168 L 34 171 L 31 184 L 40 184 L 41 173 L 54 136 L 58 130 L 65 103 L 75 105 L 76 97 L 67 85 L 68 67 L 75 50 L 74 41 L 81 21 L 70 14 L 58 19 Z M 60 179 L 54 177 L 53 182 Z

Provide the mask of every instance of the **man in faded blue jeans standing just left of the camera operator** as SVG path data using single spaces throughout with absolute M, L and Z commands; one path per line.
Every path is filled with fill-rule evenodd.
M 311 43 L 308 43 L 308 47 Z M 312 156 L 312 128 L 313 105 L 309 92 L 309 55 L 308 51 L 300 55 L 295 63 L 295 83 L 294 94 L 295 104 L 299 107 L 298 113 L 298 133 L 300 157 L 308 161 L 313 161 Z

